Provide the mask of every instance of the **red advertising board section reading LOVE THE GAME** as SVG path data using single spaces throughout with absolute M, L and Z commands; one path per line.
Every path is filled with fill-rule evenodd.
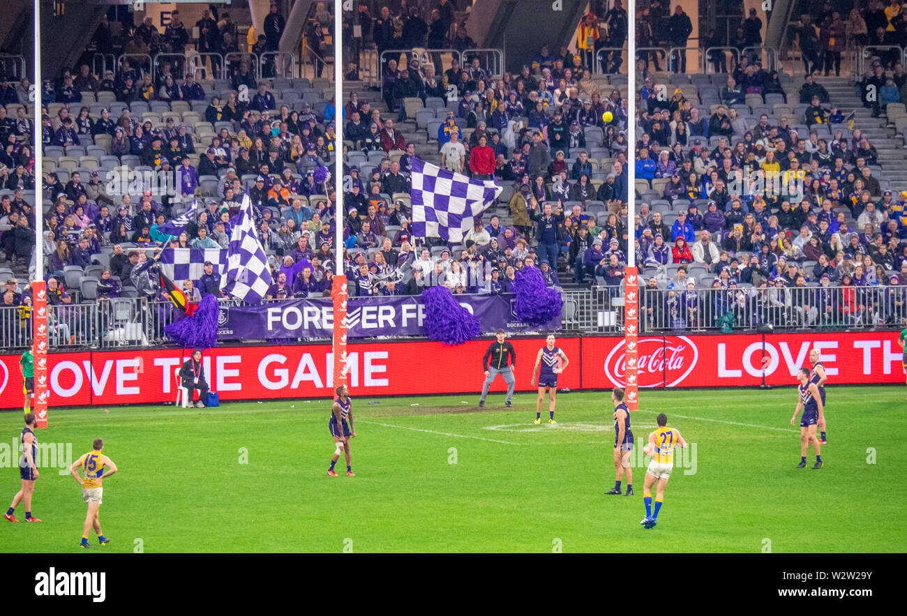
M 516 385 L 527 391 L 543 337 L 513 340 Z M 352 396 L 473 393 L 477 402 L 484 375 L 482 357 L 488 340 L 445 347 L 436 342 L 382 342 L 346 347 L 347 386 Z M 558 385 L 580 388 L 580 339 L 559 338 L 571 366 Z M 51 406 L 149 404 L 176 399 L 181 349 L 51 354 Z M 18 375 L 18 356 L 0 356 L 10 376 Z M 220 400 L 330 396 L 334 357 L 330 345 L 221 347 L 202 359 L 209 386 Z M 2 375 L 0 375 L 2 376 Z M 18 405 L 11 396 L 19 383 L 0 380 L 0 406 Z M 506 390 L 503 379 L 493 392 Z

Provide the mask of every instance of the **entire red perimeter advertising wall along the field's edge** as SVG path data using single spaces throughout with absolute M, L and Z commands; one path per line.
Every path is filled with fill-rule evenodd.
M 532 391 L 532 365 L 542 337 L 513 338 L 516 382 Z M 445 347 L 430 341 L 351 344 L 353 396 L 476 396 L 488 340 Z M 622 337 L 559 337 L 571 359 L 559 386 L 571 390 L 623 386 Z M 698 335 L 639 337 L 639 386 L 729 387 L 762 384 L 763 349 L 770 386 L 792 385 L 809 349 L 822 349 L 833 385 L 903 383 L 896 332 Z M 0 408 L 21 408 L 18 355 L 0 356 Z M 176 399 L 176 377 L 188 357 L 179 348 L 59 352 L 48 355 L 52 407 L 160 404 Z M 333 357 L 329 344 L 235 346 L 210 349 L 205 371 L 221 400 L 311 398 L 330 395 Z M 498 379 L 493 391 L 503 391 Z

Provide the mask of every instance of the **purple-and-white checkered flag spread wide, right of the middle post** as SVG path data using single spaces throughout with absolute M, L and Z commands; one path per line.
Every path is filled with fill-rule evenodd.
M 502 191 L 493 180 L 471 180 L 415 158 L 412 165 L 414 236 L 463 241 Z

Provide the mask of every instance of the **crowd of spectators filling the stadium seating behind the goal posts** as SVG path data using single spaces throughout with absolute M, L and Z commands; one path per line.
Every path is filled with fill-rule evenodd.
M 418 15 L 395 16 L 382 8 L 366 34 L 379 50 L 395 48 L 388 33 L 397 22 L 409 24 L 407 35 L 420 41 L 433 33 L 443 37 L 444 24 L 450 24 L 445 5 L 426 28 L 410 24 Z M 872 302 L 891 302 L 885 314 L 902 314 L 905 196 L 883 191 L 872 142 L 814 79 L 821 65 L 811 65 L 814 72 L 797 87 L 784 73 L 766 71 L 759 54 L 743 54 L 727 66 L 709 58 L 728 70 L 717 80 L 690 77 L 679 59 L 672 62 L 678 73 L 649 73 L 653 61 L 658 70 L 658 58 L 642 54 L 635 66 L 637 158 L 629 161 L 625 76 L 593 74 L 595 54 L 586 53 L 587 44 L 621 33 L 622 9 L 617 10 L 601 23 L 592 15 L 580 24 L 592 33 L 580 38 L 580 53 L 561 47 L 553 54 L 543 46 L 518 73 L 488 73 L 479 56 L 469 54 L 474 43 L 464 40 L 464 28 L 453 41 L 462 47 L 463 66 L 453 60 L 444 69 L 440 58 L 424 65 L 405 64 L 404 58 L 400 67 L 387 62 L 383 102 L 366 92 L 340 102 L 347 210 L 342 221 L 334 216 L 333 178 L 315 180 L 317 168 L 333 161 L 338 147 L 338 112 L 329 87 L 319 91 L 308 80 L 258 79 L 243 62 L 223 87 L 195 82 L 191 73 L 181 73 L 184 67 L 167 62 L 156 73 L 127 58 L 116 73 L 93 75 L 87 65 L 66 71 L 42 89 L 41 147 L 59 166 L 45 167 L 39 186 L 49 210 L 38 275 L 63 282 L 54 290 L 60 301 L 72 301 L 71 292 L 83 290 L 69 288 L 78 281 L 66 276 L 73 267 L 98 282 L 84 297 L 161 298 L 150 275 L 154 257 L 142 248 L 226 248 L 248 195 L 273 259 L 269 299 L 328 295 L 337 249 L 360 296 L 415 294 L 434 284 L 455 293 L 506 292 L 517 270 L 534 266 L 551 286 L 561 286 L 560 269 L 576 284 L 619 294 L 627 262 L 627 201 L 634 191 L 636 261 L 649 286 L 663 294 L 649 306 L 651 318 L 665 319 L 659 322 L 689 325 L 690 314 L 706 312 L 694 296 L 703 301 L 700 291 L 709 288 L 729 290 L 720 295 L 728 307 L 720 314 L 736 311 L 737 322 L 746 320 L 744 312 L 752 317 L 776 308 L 791 315 L 791 323 L 826 322 L 830 311 L 835 322 L 870 324 L 878 314 L 867 308 Z M 872 21 L 873 11 L 864 18 Z M 818 17 L 818 24 L 835 19 Z M 435 26 L 439 19 L 448 21 Z M 682 34 L 681 22 L 670 28 Z M 217 30 L 216 23 L 202 25 Z M 652 34 L 651 20 L 643 19 L 640 27 L 649 28 L 644 36 Z M 804 39 L 821 32 L 810 24 L 801 27 Z M 742 28 L 751 38 L 753 25 Z M 159 33 L 152 30 L 140 25 L 134 44 L 148 43 L 146 38 L 151 44 L 165 40 L 171 49 L 186 44 L 174 33 L 155 38 Z M 221 29 L 219 43 L 201 45 L 223 51 L 225 40 Z M 264 44 L 271 43 L 268 35 Z M 829 57 L 834 64 L 834 54 Z M 615 71 L 622 62 L 610 54 L 604 68 Z M 883 57 L 872 64 L 870 79 L 891 80 L 900 101 L 907 74 L 900 61 L 885 63 Z M 448 101 L 451 85 L 456 98 Z M 0 179 L 14 191 L 0 200 L 0 232 L 5 259 L 20 263 L 31 259 L 36 232 L 34 211 L 23 198 L 36 181 L 32 120 L 19 104 L 27 86 L 5 85 L 0 107 L 0 142 L 6 144 Z M 248 88 L 248 100 L 239 97 L 240 86 Z M 407 141 L 405 134 L 415 130 L 425 132 L 427 145 Z M 86 167 L 85 156 L 91 159 L 93 152 L 95 164 Z M 495 204 L 502 210 L 493 206 L 462 245 L 414 237 L 410 230 L 411 161 L 439 155 L 447 169 L 494 177 L 505 187 Z M 78 167 L 64 165 L 64 156 Z M 108 191 L 105 176 L 120 164 L 160 177 L 172 172 L 177 190 Z M 628 182 L 630 164 L 635 186 Z M 763 182 L 776 190 L 766 190 Z M 202 203 L 198 217 L 178 235 L 165 232 L 194 198 Z M 336 246 L 336 224 L 343 225 L 342 247 Z M 219 295 L 218 273 L 210 265 L 205 270 L 203 279 L 177 282 L 192 297 Z M 822 304 L 814 289 L 828 285 L 836 294 Z M 842 294 L 842 287 L 857 293 Z M 870 287 L 888 292 L 866 299 L 863 289 Z M 797 288 L 813 289 L 813 295 L 805 301 L 805 291 Z M 714 308 L 718 296 L 707 297 Z M 14 292 L 12 300 L 27 301 L 27 292 Z M 707 320 L 714 323 L 717 314 Z

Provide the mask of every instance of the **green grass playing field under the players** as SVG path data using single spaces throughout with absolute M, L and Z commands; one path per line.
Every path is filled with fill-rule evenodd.
M 761 552 L 766 540 L 772 552 L 907 550 L 904 388 L 829 387 L 818 471 L 795 469 L 795 396 L 644 391 L 638 444 L 664 412 L 696 445 L 695 473 L 675 469 L 649 531 L 645 466 L 634 468 L 635 496 L 602 494 L 614 484 L 608 393 L 561 394 L 558 425 L 532 425 L 534 395 L 511 409 L 490 396 L 483 411 L 477 396 L 354 397 L 356 477 L 342 457 L 341 476 L 326 474 L 327 398 L 52 409 L 38 438 L 72 443 L 74 459 L 102 436 L 120 468 L 101 508 L 112 543 L 92 538 L 93 552 L 132 552 L 136 540 L 144 552 Z M 0 415 L 7 450 L 21 427 L 20 412 Z M 2 473 L 5 508 L 15 462 Z M 72 476 L 42 469 L 33 509 L 44 523 L 0 521 L 0 551 L 79 550 L 85 505 Z

